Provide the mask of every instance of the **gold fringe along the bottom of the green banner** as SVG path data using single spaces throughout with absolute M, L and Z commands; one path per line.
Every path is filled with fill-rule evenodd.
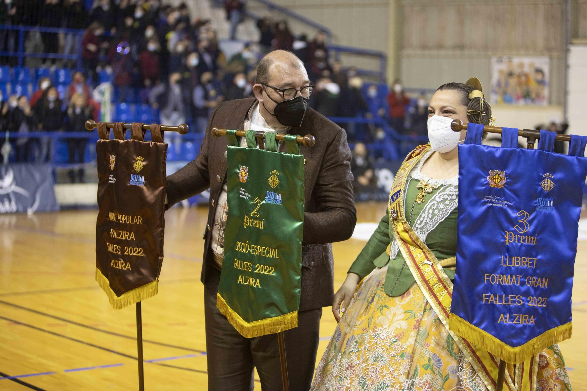
M 298 311 L 249 323 L 245 322 L 241 316 L 232 311 L 220 293 L 216 296 L 216 306 L 220 309 L 222 315 L 227 317 L 228 322 L 245 338 L 279 333 L 298 326 Z

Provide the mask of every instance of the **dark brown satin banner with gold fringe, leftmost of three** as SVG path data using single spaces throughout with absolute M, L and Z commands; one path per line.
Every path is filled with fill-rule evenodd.
M 145 142 L 141 123 L 124 137 L 123 123 L 114 124 L 117 140 L 109 140 L 97 124 L 98 206 L 96 281 L 113 308 L 123 308 L 157 294 L 163 262 L 167 144 Z

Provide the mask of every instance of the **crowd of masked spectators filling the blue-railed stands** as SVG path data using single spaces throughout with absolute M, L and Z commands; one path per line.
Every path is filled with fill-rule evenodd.
M 400 133 L 426 134 L 426 99 L 410 103 L 415 100 L 403 93 L 399 80 L 387 96 L 381 85 L 367 86 L 357 69 L 345 69 L 340 61 L 329 59 L 325 32 L 312 38 L 294 35 L 287 21 L 265 16 L 257 21 L 259 42 L 245 43 L 227 56 L 211 21 L 194 18 L 185 3 L 95 0 L 89 9 L 85 4 L 83 0 L 0 1 L 0 19 L 4 18 L 0 23 L 85 29 L 80 42 L 73 33 L 24 35 L 27 51 L 81 56 L 82 72 L 74 73 L 72 83 L 59 92 L 48 77 L 42 77 L 30 101 L 24 95 L 4 97 L 0 129 L 83 130 L 82 117 L 90 114 L 97 119 L 100 110 L 92 99 L 93 89 L 107 81 L 116 90 L 116 102 L 150 105 L 161 123 L 188 123 L 193 132 L 203 132 L 221 102 L 252 96 L 258 60 L 271 50 L 284 49 L 304 63 L 316 86 L 309 105 L 325 116 L 380 117 Z M 239 0 L 226 0 L 225 9 L 234 36 L 244 6 Z M 8 50 L 16 48 L 16 32 L 0 31 L 0 43 Z M 0 58 L 0 62 L 14 65 L 14 59 Z M 77 65 L 76 60 L 63 59 L 26 58 L 26 62 L 31 67 Z M 369 143 L 385 136 L 381 127 L 372 124 L 341 125 L 351 142 Z M 70 163 L 82 162 L 82 141 L 72 140 L 68 147 Z M 21 138 L 15 149 L 19 161 L 51 160 L 50 139 Z M 70 178 L 83 179 L 73 171 Z

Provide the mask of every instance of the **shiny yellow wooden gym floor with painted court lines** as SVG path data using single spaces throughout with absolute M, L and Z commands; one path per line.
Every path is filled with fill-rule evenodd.
M 376 223 L 385 208 L 358 204 L 359 223 Z M 200 283 L 206 215 L 207 208 L 166 213 L 159 294 L 143 302 L 148 390 L 207 389 Z M 96 211 L 0 216 L 0 390 L 137 389 L 134 306 L 112 309 L 94 280 L 95 224 Z M 365 244 L 360 231 L 365 237 L 374 228 L 359 224 L 358 238 L 333 246 L 337 287 Z M 575 332 L 561 343 L 575 390 L 587 389 L 587 230 L 580 228 L 579 238 Z M 325 308 L 318 358 L 335 326 Z

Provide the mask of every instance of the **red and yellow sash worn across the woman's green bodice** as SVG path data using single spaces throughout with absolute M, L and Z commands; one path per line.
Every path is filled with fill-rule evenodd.
M 453 301 L 453 282 L 446 275 L 438 259 L 418 237 L 407 223 L 404 214 L 404 192 L 410 171 L 430 150 L 430 144 L 417 147 L 406 157 L 393 180 L 389 195 L 390 230 L 402 251 L 411 274 L 416 279 L 421 291 L 436 312 L 436 315 L 448 330 L 458 347 L 463 351 L 473 368 L 481 377 L 485 386 L 495 390 L 500 359 L 461 338 L 448 328 L 450 305 Z M 389 250 L 389 249 L 388 249 Z M 389 251 L 388 251 L 389 254 Z M 510 391 L 533 391 L 536 387 L 538 356 L 518 365 L 507 366 L 505 372 L 505 389 Z

